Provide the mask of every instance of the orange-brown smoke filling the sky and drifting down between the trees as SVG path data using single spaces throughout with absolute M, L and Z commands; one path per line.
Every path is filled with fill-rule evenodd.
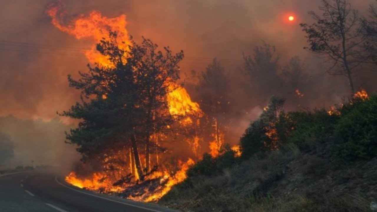
M 76 40 L 50 23 L 46 8 L 52 2 L 5 0 L 0 3 L 0 116 L 15 117 L 2 118 L 0 129 L 14 137 L 16 150 L 22 152 L 22 163 L 31 158 L 36 163 L 54 163 L 55 159 L 49 159 L 56 155 L 54 151 L 58 148 L 55 145 L 64 144 L 61 144 L 64 140 L 63 129 L 69 128 L 65 124 L 73 123 L 72 120 L 58 117 L 56 111 L 67 110 L 79 100 L 78 91 L 68 87 L 66 76 L 72 74 L 75 77 L 77 71 L 86 71 L 87 59 L 83 51 L 92 45 L 91 40 Z M 264 93 L 259 94 L 265 96 L 264 101 L 250 97 L 248 80 L 239 71 L 243 64 L 242 53 L 253 54 L 254 47 L 261 45 L 262 40 L 276 46 L 280 66 L 285 66 L 296 55 L 300 55 L 307 65 L 305 71 L 311 81 L 303 88 L 307 92 L 303 91 L 305 99 L 302 101 L 305 102 L 301 107 L 329 106 L 339 102 L 348 92 L 346 79 L 323 76 L 326 67 L 321 66 L 321 60 L 303 50 L 307 43 L 299 23 L 312 22 L 307 12 L 317 11 L 320 0 L 64 2 L 66 23 L 72 17 L 87 15 L 92 10 L 106 17 L 125 14 L 129 34 L 136 41 L 144 36 L 159 46 L 170 46 L 173 51 L 184 50 L 186 57 L 181 63 L 181 71 L 182 80 L 188 87 L 195 80 L 190 81 L 185 76 L 190 76 L 193 69 L 204 71 L 212 58 L 217 57 L 230 72 L 232 83 L 229 92 L 233 97 L 231 115 L 236 123 L 232 127 L 235 138 L 240 136 L 251 119 L 256 118 L 255 114 L 261 111 L 260 108 L 267 104 L 269 98 Z M 374 0 L 350 2 L 359 9 L 360 14 L 365 14 Z M 296 22 L 287 23 L 288 14 L 294 14 Z M 358 85 L 375 89 L 371 86 L 374 80 L 360 78 Z M 197 91 L 189 91 L 195 97 Z M 287 92 L 294 90 L 287 89 Z M 296 109 L 296 106 L 297 102 L 294 101 L 287 108 Z M 33 134 L 32 129 L 38 130 Z M 48 135 L 53 142 L 44 135 Z M 42 149 L 38 148 L 41 146 Z

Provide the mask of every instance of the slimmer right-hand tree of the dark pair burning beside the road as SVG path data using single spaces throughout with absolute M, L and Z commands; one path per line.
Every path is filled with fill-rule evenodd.
M 132 57 L 137 57 L 134 69 L 139 88 L 139 106 L 144 109 L 145 121 L 141 134 L 146 144 L 146 169 L 150 172 L 150 138 L 156 132 L 167 130 L 174 119 L 169 113 L 167 94 L 177 86 L 179 79 L 179 61 L 183 52 L 172 54 L 169 48 L 165 52 L 157 51 L 158 46 L 150 40 L 143 40 L 141 46 L 133 43 Z

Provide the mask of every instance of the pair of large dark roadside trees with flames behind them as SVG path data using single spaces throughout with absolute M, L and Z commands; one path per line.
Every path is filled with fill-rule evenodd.
M 179 78 L 183 52 L 173 55 L 169 48 L 164 48 L 164 53 L 156 51 L 158 46 L 147 39 L 142 45 L 132 40 L 128 51 L 117 42 L 116 33 L 110 32 L 110 40 L 97 46 L 110 66 L 88 66 L 89 72 L 80 73 L 78 80 L 68 76 L 69 85 L 81 90 L 82 101 L 61 115 L 83 120 L 67 134 L 67 140 L 87 157 L 109 146 L 131 148 L 142 180 L 150 172 L 150 137 L 168 130 L 174 121 L 166 97 Z M 146 147 L 146 170 L 139 157 L 142 144 Z

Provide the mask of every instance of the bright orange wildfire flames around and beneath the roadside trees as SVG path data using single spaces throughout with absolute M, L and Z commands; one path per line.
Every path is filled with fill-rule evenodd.
M 87 17 L 79 15 L 78 18 L 75 18 L 68 25 L 62 25 L 60 20 L 64 12 L 61 12 L 61 9 L 61 5 L 51 6 L 48 9 L 47 13 L 52 18 L 52 24 L 61 31 L 74 35 L 77 39 L 90 38 L 95 42 L 90 50 L 84 51 L 90 63 L 100 67 L 114 67 L 114 63 L 109 60 L 109 57 L 98 52 L 96 48 L 97 43 L 109 38 L 109 31 L 116 32 L 116 45 L 118 45 L 118 49 L 127 52 L 131 47 L 132 42 L 129 40 L 126 30 L 127 22 L 125 15 L 107 18 L 103 17 L 97 11 L 92 11 Z M 126 58 L 122 58 L 122 61 L 126 63 L 126 60 L 123 59 Z M 105 81 L 104 86 L 108 86 L 107 82 Z M 164 140 L 174 140 L 173 137 L 186 133 L 188 134 L 186 138 L 181 139 L 187 140 L 187 143 L 191 146 L 192 153 L 196 159 L 199 159 L 199 141 L 202 138 L 197 135 L 195 128 L 199 126 L 199 119 L 204 114 L 199 104 L 191 100 L 185 88 L 176 83 L 169 82 L 166 84 L 169 92 L 167 92 L 164 98 L 167 101 L 169 114 L 175 120 L 173 125 L 178 125 L 178 127 L 175 126 L 176 129 L 173 136 L 169 135 L 169 133 L 154 132 L 147 137 L 147 143 L 143 144 L 145 145 L 143 146 L 145 149 L 141 148 L 145 151 L 145 154 L 135 154 L 135 147 L 119 147 L 115 151 L 106 152 L 99 157 L 101 158 L 100 163 L 102 163 L 103 171 L 93 171 L 89 177 L 87 175 L 80 176 L 78 175 L 79 173 L 72 171 L 66 176 L 65 180 L 83 189 L 105 193 L 118 193 L 125 198 L 148 202 L 159 200 L 159 198 L 169 192 L 172 186 L 184 181 L 187 177 L 186 171 L 190 166 L 195 164 L 195 161 L 191 158 L 182 158 L 173 162 L 173 166 L 164 164 L 161 160 L 166 158 L 161 157 L 161 152 L 165 152 L 165 150 L 163 150 L 159 143 Z M 109 100 L 107 92 L 99 94 L 99 96 L 101 100 Z M 153 119 L 154 116 L 151 121 Z M 221 154 L 221 148 L 224 143 L 224 134 L 219 132 L 217 124 L 216 121 L 216 132 L 211 134 L 215 138 L 215 141 L 209 143 L 212 157 L 217 157 Z M 164 126 L 166 130 L 173 130 L 172 128 L 174 126 L 170 126 L 169 124 Z M 177 132 L 177 129 L 185 133 Z M 236 156 L 241 155 L 239 146 L 234 146 L 232 149 Z M 152 154 L 155 155 L 153 160 L 151 159 Z M 184 160 L 187 161 L 182 162 Z M 144 164 L 141 164 L 141 161 L 144 161 Z M 153 168 L 151 168 L 151 163 L 154 164 Z M 150 184 L 142 189 L 134 188 L 146 181 L 149 181 Z M 127 193 L 127 189 L 131 190 L 131 193 Z

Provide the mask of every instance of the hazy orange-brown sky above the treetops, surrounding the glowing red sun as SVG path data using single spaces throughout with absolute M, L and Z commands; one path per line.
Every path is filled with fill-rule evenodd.
M 50 0 L 0 2 L 0 116 L 56 117 L 68 109 L 78 93 L 66 75 L 85 71 L 87 60 L 79 49 L 90 40 L 74 37 L 52 26 L 46 15 Z M 182 71 L 201 71 L 211 58 L 227 68 L 242 64 L 264 40 L 277 47 L 285 60 L 294 55 L 310 59 L 300 22 L 311 23 L 307 12 L 320 0 L 66 0 L 66 21 L 97 10 L 107 17 L 126 14 L 129 34 L 141 35 L 173 51 L 184 50 Z M 374 0 L 350 0 L 365 13 Z M 288 14 L 296 21 L 288 23 Z M 61 47 L 69 47 L 64 49 Z

